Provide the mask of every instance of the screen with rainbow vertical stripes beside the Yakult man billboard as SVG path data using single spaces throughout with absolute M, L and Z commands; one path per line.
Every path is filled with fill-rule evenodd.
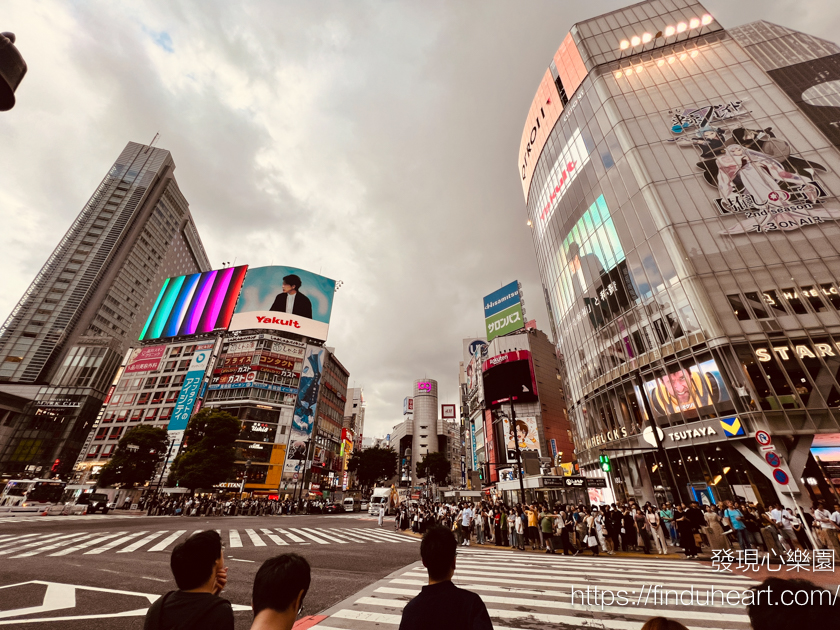
M 242 265 L 168 278 L 140 341 L 227 329 L 247 270 Z

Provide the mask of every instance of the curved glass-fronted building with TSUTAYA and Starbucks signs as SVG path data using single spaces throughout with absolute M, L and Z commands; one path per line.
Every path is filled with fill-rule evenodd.
M 837 52 L 651 0 L 576 24 L 545 72 L 517 171 L 577 457 L 609 453 L 619 500 L 831 496 L 838 103 L 814 67 Z

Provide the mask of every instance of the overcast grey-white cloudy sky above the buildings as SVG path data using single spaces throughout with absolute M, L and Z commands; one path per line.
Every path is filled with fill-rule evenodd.
M 571 25 L 628 4 L 6 0 L 29 72 L 0 113 L 0 317 L 125 144 L 159 132 L 214 267 L 344 281 L 328 345 L 364 387 L 366 435 L 416 378 L 455 402 L 482 296 L 518 279 L 550 334 L 519 139 Z M 828 0 L 705 4 L 727 27 L 840 31 Z

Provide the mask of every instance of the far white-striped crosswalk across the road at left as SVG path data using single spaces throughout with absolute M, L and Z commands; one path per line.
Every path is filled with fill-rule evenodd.
M 0 562 L 5 558 L 99 555 L 108 552 L 169 552 L 201 529 L 68 533 L 0 534 Z M 416 544 L 417 539 L 367 527 L 273 527 L 217 530 L 228 550 L 298 545 Z

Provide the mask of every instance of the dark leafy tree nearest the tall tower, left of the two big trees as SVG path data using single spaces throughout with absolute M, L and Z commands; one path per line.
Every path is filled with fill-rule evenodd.
M 97 484 L 132 488 L 149 481 L 166 456 L 167 446 L 165 429 L 134 427 L 117 444 L 117 452 L 102 468 Z

